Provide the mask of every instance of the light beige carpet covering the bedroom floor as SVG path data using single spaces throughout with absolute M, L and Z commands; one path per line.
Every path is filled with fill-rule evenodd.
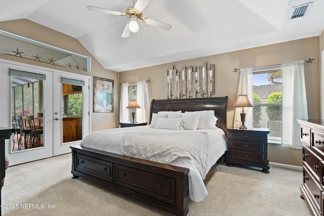
M 11 166 L 2 189 L 2 215 L 172 215 L 88 180 L 72 179 L 71 154 Z M 300 198 L 302 171 L 270 166 L 270 174 L 221 163 L 208 196 L 193 215 L 311 215 Z

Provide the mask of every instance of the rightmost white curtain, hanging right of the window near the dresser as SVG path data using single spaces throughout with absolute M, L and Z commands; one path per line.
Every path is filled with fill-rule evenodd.
M 282 144 L 301 149 L 297 119 L 308 119 L 304 61 L 285 63 L 282 67 Z

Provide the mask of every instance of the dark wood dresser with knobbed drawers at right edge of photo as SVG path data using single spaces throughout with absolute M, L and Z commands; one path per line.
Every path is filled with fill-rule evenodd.
M 324 120 L 299 120 L 303 144 L 303 198 L 314 215 L 324 211 Z

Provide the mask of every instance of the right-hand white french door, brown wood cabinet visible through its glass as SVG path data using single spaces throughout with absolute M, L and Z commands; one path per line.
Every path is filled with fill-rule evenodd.
M 90 77 L 72 73 L 54 73 L 54 153 L 71 152 L 89 134 Z

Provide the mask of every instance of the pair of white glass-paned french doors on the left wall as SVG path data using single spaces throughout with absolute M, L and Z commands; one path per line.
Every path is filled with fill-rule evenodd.
M 18 126 L 12 139 L 6 141 L 10 165 L 68 153 L 70 145 L 79 144 L 89 134 L 90 79 L 0 60 L 0 88 L 9 90 L 0 95 L 0 100 L 11 101 L 0 107 L 1 113 L 7 113 L 0 121 L 3 126 L 13 126 L 13 117 L 21 116 L 25 127 L 22 131 Z M 30 116 L 38 133 L 30 129 Z

